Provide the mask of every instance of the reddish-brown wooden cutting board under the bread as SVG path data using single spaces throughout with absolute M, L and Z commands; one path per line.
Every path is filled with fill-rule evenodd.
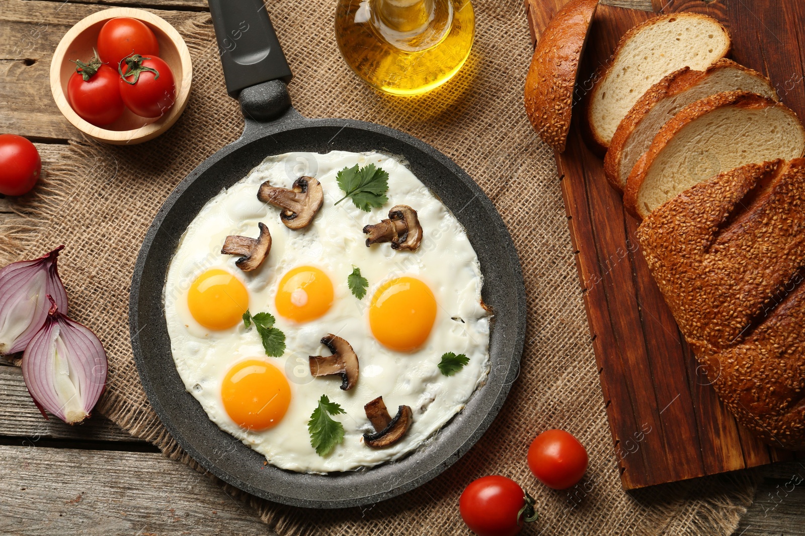
M 695 11 L 724 23 L 732 58 L 768 76 L 781 100 L 805 117 L 805 2 L 643 3 L 649 1 L 653 12 L 598 6 L 577 93 L 634 24 L 659 13 Z M 526 0 L 532 39 L 566 2 Z M 794 459 L 795 453 L 755 439 L 716 397 L 650 276 L 635 237 L 638 222 L 606 182 L 601 159 L 584 145 L 579 108 L 576 103 L 567 149 L 555 157 L 623 487 Z

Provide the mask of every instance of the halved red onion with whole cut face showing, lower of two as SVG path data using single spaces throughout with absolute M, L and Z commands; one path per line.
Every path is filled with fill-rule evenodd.
M 23 378 L 36 407 L 76 424 L 101 398 L 108 364 L 101 341 L 84 325 L 59 312 L 52 297 L 42 329 L 23 354 Z

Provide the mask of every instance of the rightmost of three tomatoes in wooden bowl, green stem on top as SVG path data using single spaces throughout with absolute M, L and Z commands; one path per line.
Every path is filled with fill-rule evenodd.
M 120 64 L 120 96 L 138 116 L 159 117 L 176 100 L 176 85 L 171 68 L 156 56 L 134 54 Z

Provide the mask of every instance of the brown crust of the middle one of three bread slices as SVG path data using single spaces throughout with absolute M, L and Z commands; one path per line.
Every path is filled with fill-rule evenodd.
M 711 76 L 712 73 L 720 71 L 724 68 L 739 69 L 751 76 L 765 80 L 772 90 L 774 100 L 779 100 L 777 92 L 774 91 L 774 86 L 766 76 L 763 76 L 753 69 L 746 68 L 740 63 L 735 63 L 732 59 L 721 58 L 713 63 L 705 71 L 693 71 L 691 68 L 683 67 L 671 74 L 665 76 L 657 84 L 654 84 L 641 96 L 626 117 L 623 118 L 621 123 L 617 125 L 617 130 L 612 137 L 612 142 L 609 144 L 606 155 L 604 157 L 604 173 L 609 181 L 619 192 L 623 192 L 625 188 L 625 178 L 621 181 L 621 158 L 623 156 L 623 147 L 626 141 L 629 141 L 634 129 L 640 125 L 641 121 L 648 115 L 654 105 L 658 104 L 661 100 L 675 96 L 678 93 L 687 91 L 693 86 L 700 84 L 705 78 Z

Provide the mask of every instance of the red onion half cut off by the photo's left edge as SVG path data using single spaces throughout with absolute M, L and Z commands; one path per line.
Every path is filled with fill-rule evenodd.
M 0 268 L 0 354 L 22 352 L 42 328 L 53 297 L 67 313 L 67 293 L 56 259 L 64 246 L 34 260 L 20 260 Z

